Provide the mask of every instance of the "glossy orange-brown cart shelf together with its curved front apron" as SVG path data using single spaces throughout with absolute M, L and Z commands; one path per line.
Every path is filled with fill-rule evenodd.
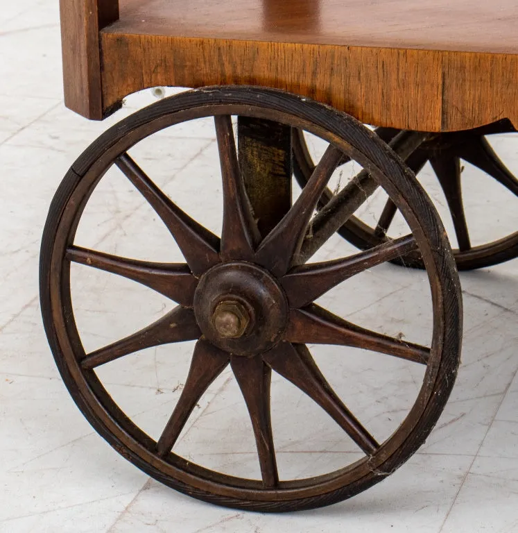
M 101 30 L 101 112 L 85 112 L 78 91 L 67 105 L 101 119 L 146 87 L 258 85 L 377 126 L 516 125 L 517 22 L 510 0 L 121 0 L 119 19 Z M 94 69 L 95 50 L 78 53 Z

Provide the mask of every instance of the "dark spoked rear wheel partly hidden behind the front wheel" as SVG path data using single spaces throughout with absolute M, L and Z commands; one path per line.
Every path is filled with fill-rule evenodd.
M 377 128 L 377 133 L 386 142 L 399 133 L 393 128 Z M 494 124 L 475 128 L 473 130 L 441 133 L 426 140 L 416 151 L 404 158 L 406 164 L 417 175 L 426 162 L 430 162 L 447 200 L 451 219 L 458 241 L 458 249 L 454 249 L 455 261 L 459 270 L 480 269 L 514 259 L 518 256 L 518 231 L 493 242 L 479 246 L 472 246 L 469 238 L 469 228 L 464 212 L 463 194 L 460 186 L 462 167 L 460 160 L 467 161 L 478 167 L 512 195 L 518 196 L 518 179 L 500 160 L 486 135 L 494 133 L 515 132 L 515 128 L 508 120 L 501 120 Z M 293 171 L 301 187 L 307 183 L 315 164 L 311 158 L 304 135 L 295 131 L 293 135 Z M 347 158 L 344 160 L 347 162 Z M 333 193 L 326 189 L 320 198 L 320 208 L 331 200 Z M 503 205 L 503 210 L 511 209 Z M 386 202 L 376 227 L 371 227 L 357 217 L 350 217 L 338 230 L 340 235 L 362 250 L 381 244 L 389 230 L 390 223 L 397 212 L 395 203 L 390 198 Z M 407 257 L 399 264 L 407 267 L 423 268 L 418 257 Z

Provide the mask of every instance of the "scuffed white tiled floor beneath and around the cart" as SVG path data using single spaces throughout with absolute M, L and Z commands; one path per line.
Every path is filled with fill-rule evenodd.
M 62 384 L 46 343 L 37 287 L 40 237 L 70 164 L 107 126 L 154 97 L 149 91 L 130 96 L 126 108 L 103 123 L 64 108 L 57 4 L 6 2 L 0 15 L 0 531 L 518 532 L 517 260 L 461 275 L 463 364 L 449 403 L 413 458 L 351 500 L 277 516 L 218 508 L 150 480 L 98 437 Z M 517 135 L 492 142 L 518 172 Z M 221 186 L 211 124 L 173 128 L 139 146 L 135 157 L 175 202 L 218 231 Z M 517 198 L 474 169 L 464 176 L 464 183 L 471 180 L 465 191 L 475 244 L 516 230 Z M 422 180 L 451 229 L 429 169 Z M 364 210 L 365 219 L 379 212 L 379 201 Z M 141 259 L 178 260 L 168 232 L 116 171 L 92 196 L 77 242 Z M 352 248 L 337 237 L 322 257 L 341 251 Z M 114 278 L 74 270 L 74 304 L 87 350 L 135 331 L 170 305 Z M 340 290 L 326 301 L 335 312 L 380 332 L 429 342 L 423 273 L 381 265 Z M 144 350 L 99 370 L 119 405 L 154 437 L 178 399 L 191 348 Z M 354 412 L 388 437 L 413 403 L 422 371 L 363 350 L 313 351 Z M 257 476 L 250 423 L 230 373 L 202 398 L 192 422 L 175 449 L 180 455 Z M 273 423 L 284 478 L 324 473 L 356 457 L 334 423 L 278 377 Z

